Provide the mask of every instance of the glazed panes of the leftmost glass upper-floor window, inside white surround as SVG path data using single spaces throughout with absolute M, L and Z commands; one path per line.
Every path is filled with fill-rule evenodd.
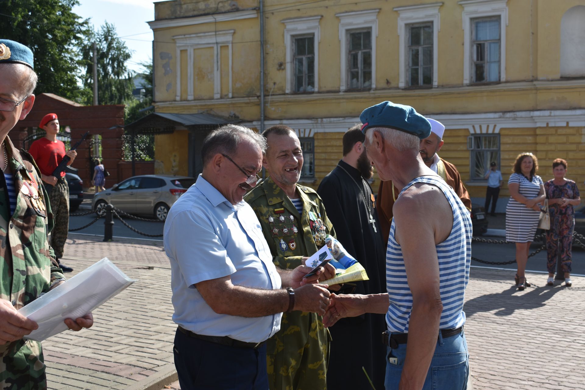
M 294 91 L 315 91 L 315 38 L 294 37 Z

